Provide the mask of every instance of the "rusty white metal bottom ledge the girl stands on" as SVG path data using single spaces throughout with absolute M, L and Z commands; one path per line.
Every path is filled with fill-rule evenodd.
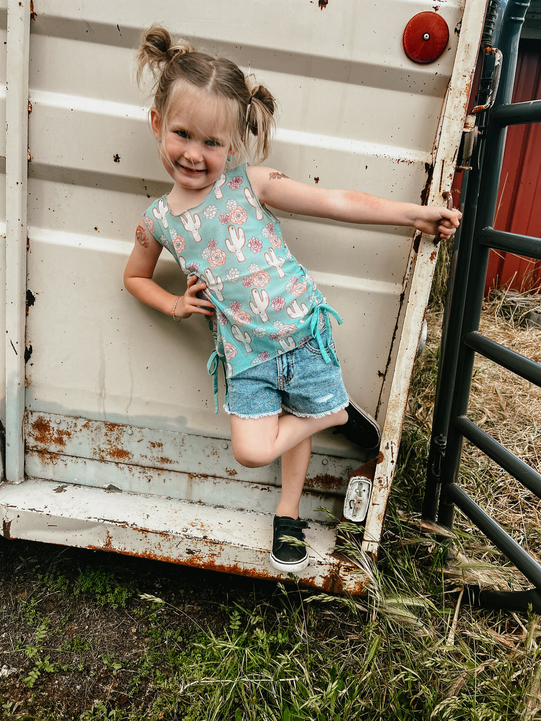
M 114 551 L 253 578 L 287 581 L 269 561 L 268 515 L 205 506 L 155 495 L 116 494 L 72 484 L 27 480 L 4 484 L 2 525 L 6 538 Z M 302 585 L 363 593 L 359 567 L 333 553 L 335 533 L 311 521 L 306 531 L 310 565 Z

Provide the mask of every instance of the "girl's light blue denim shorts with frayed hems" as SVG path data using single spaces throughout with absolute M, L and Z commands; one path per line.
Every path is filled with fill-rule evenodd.
M 325 343 L 325 330 L 321 333 Z M 334 350 L 333 338 L 330 339 Z M 317 340 L 288 350 L 228 380 L 229 404 L 224 410 L 239 418 L 262 418 L 286 410 L 293 415 L 322 418 L 348 404 L 340 366 L 325 363 Z

